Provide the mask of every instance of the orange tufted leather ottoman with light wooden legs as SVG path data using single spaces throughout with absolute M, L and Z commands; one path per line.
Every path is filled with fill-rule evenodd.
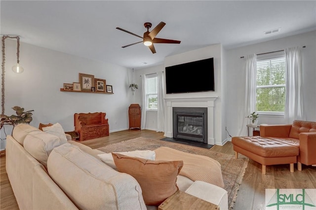
M 266 174 L 266 166 L 290 164 L 290 172 L 294 172 L 294 163 L 299 155 L 299 142 L 295 139 L 273 139 L 260 136 L 233 137 L 235 156 L 238 153 L 262 164 L 262 174 Z

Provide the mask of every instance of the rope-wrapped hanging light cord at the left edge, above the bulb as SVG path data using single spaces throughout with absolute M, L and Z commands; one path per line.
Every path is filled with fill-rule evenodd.
M 6 38 L 16 38 L 17 40 L 17 63 L 19 63 L 19 54 L 20 54 L 20 37 L 19 36 L 9 36 L 9 35 L 3 35 L 2 36 L 2 64 L 1 64 L 1 114 L 4 114 L 4 75 L 5 75 L 5 45 L 4 40 Z

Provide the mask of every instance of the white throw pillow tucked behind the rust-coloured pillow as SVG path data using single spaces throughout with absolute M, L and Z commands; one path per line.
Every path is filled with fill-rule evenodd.
M 138 157 L 138 158 L 144 158 L 148 160 L 155 160 L 156 153 L 152 150 L 135 150 L 135 151 L 129 151 L 129 152 L 114 152 L 130 157 Z M 107 165 L 111 166 L 113 169 L 117 169 L 112 153 L 105 153 L 105 154 L 98 154 L 99 158 L 106 163 Z

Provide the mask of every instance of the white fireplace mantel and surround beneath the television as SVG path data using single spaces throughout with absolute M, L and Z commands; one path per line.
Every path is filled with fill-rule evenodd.
M 207 107 L 207 142 L 215 144 L 214 129 L 214 108 L 215 100 L 218 97 L 197 97 L 197 98 L 167 98 L 164 99 L 165 110 L 165 132 L 164 136 L 172 138 L 172 107 Z

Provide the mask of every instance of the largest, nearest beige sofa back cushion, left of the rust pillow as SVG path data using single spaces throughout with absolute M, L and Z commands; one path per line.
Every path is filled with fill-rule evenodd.
M 115 171 L 78 146 L 63 144 L 54 148 L 47 168 L 79 209 L 146 210 L 135 178 Z

